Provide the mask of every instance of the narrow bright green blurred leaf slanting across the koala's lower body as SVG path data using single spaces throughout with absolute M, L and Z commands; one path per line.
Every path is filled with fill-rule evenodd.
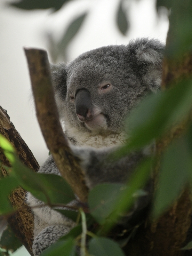
M 125 190 L 121 192 L 119 197 L 120 199 L 115 205 L 115 211 L 112 212 L 112 214 L 106 219 L 104 225 L 99 231 L 99 234 L 106 235 L 108 231 L 115 225 L 119 217 L 131 208 L 132 203 L 134 202 L 133 195 L 138 189 L 143 188 L 149 179 L 151 167 L 151 158 L 145 159 L 137 166 L 135 172 L 130 177 Z

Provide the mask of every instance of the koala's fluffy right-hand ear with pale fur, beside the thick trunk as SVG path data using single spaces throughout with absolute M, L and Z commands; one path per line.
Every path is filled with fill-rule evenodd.
M 129 44 L 130 53 L 137 62 L 138 73 L 149 90 L 157 92 L 162 79 L 164 44 L 156 39 L 137 39 Z M 134 65 L 135 68 L 135 65 Z

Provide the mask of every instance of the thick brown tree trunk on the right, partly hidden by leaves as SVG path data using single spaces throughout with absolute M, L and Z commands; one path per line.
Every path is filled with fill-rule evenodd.
M 185 5 L 184 3 L 180 3 Z M 190 4 L 190 3 L 189 3 Z M 185 6 L 185 8 L 187 8 Z M 182 12 L 182 10 L 181 10 Z M 183 13 L 182 13 L 183 15 Z M 192 53 L 186 52 L 182 56 L 170 56 L 169 50 L 176 39 L 176 21 L 172 16 L 167 36 L 166 51 L 163 61 L 162 89 L 172 86 L 182 79 L 192 77 Z M 169 102 L 167 102 L 169 104 Z M 160 166 L 160 157 L 172 140 L 179 137 L 186 129 L 188 120 L 177 127 L 173 127 L 169 134 L 156 145 L 157 163 L 154 170 L 154 187 L 157 188 L 157 176 Z M 151 222 L 148 216 L 145 224 L 139 229 L 132 243 L 124 248 L 129 256 L 181 256 L 186 241 L 188 229 L 191 225 L 192 197 L 188 187 L 183 188 L 180 197 L 158 220 Z

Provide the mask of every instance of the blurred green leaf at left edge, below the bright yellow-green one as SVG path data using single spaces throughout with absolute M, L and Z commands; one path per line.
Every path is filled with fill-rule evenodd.
M 18 186 L 19 182 L 14 177 L 5 177 L 0 180 L 0 214 L 13 211 L 8 196 Z

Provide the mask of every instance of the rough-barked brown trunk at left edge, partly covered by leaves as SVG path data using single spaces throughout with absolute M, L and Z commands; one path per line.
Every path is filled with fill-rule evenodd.
M 27 165 L 29 168 L 37 171 L 39 165 L 33 156 L 32 152 L 21 138 L 20 134 L 15 129 L 12 122 L 10 122 L 10 117 L 7 115 L 6 111 L 0 106 L 0 133 L 7 138 L 13 147 L 16 149 L 21 162 Z M 0 161 L 7 166 L 10 166 L 9 161 L 4 156 L 2 150 L 0 149 Z M 6 170 L 2 167 L 1 172 L 4 176 L 7 175 Z M 27 208 L 25 203 L 25 190 L 23 188 L 17 188 L 12 192 L 10 196 L 10 201 L 14 207 L 20 208 L 14 215 L 8 218 L 8 222 L 19 238 L 22 244 L 27 248 L 28 252 L 32 255 L 32 239 L 33 239 L 33 215 L 31 211 Z M 26 207 L 23 207 L 26 206 Z

